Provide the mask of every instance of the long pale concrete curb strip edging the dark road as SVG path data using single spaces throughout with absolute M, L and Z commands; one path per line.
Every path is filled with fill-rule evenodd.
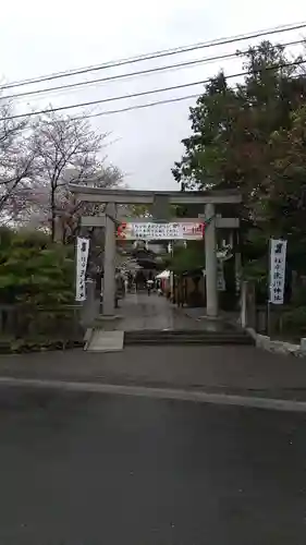
M 171 388 L 151 388 L 142 386 L 118 386 L 97 383 L 73 383 L 64 380 L 39 380 L 27 378 L 0 377 L 0 386 L 17 388 L 54 389 L 61 391 L 91 392 L 118 396 L 134 396 L 152 399 L 172 399 L 210 403 L 217 405 L 245 407 L 250 409 L 266 409 L 284 412 L 306 412 L 306 401 L 285 399 L 258 398 L 227 393 L 207 393 Z

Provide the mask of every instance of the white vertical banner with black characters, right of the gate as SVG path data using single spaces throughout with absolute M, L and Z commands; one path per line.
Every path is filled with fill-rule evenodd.
M 284 302 L 286 240 L 270 240 L 270 303 Z

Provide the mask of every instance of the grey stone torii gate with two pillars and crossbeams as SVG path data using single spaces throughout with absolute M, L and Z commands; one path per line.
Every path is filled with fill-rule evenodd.
M 84 227 L 105 227 L 105 275 L 103 275 L 103 315 L 114 315 L 115 295 L 115 240 L 117 240 L 117 205 L 158 205 L 159 209 L 167 210 L 169 205 L 204 205 L 204 214 L 197 218 L 173 218 L 169 221 L 175 223 L 195 223 L 203 221 L 205 228 L 205 256 L 206 256 L 206 311 L 207 316 L 218 316 L 218 292 L 217 292 L 217 237 L 216 228 L 237 229 L 238 218 L 222 218 L 216 215 L 216 205 L 238 204 L 242 196 L 236 191 L 206 191 L 206 192 L 181 192 L 181 191 L 138 191 L 138 190 L 106 190 L 101 187 L 70 184 L 69 189 L 76 194 L 78 201 L 89 203 L 105 203 L 106 213 L 101 216 L 87 216 L 82 218 Z M 160 214 L 159 214 L 160 216 Z M 164 222 L 166 218 L 163 218 Z M 145 222 L 155 219 L 121 218 L 120 221 Z M 168 220 L 167 220 L 168 221 Z

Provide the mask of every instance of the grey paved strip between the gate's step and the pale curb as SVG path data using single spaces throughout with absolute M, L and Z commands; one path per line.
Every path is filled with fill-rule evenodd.
M 306 400 L 306 360 L 254 347 L 126 347 L 1 355 L 0 376 Z

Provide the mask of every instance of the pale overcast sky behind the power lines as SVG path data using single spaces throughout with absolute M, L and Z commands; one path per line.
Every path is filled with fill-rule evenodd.
M 306 19 L 303 4 L 302 0 L 257 0 L 253 4 L 242 0 L 47 0 L 42 3 L 38 0 L 8 1 L 1 4 L 0 74 L 4 83 L 12 82 L 303 22 Z M 279 43 L 291 41 L 302 37 L 303 32 L 279 34 L 271 39 Z M 108 69 L 74 78 L 57 80 L 48 85 L 107 77 L 128 71 L 219 56 L 234 52 L 237 47 L 243 49 L 250 43 L 256 44 L 258 40 Z M 292 48 L 292 52 L 295 51 L 296 49 Z M 39 98 L 24 97 L 16 100 L 16 109 L 24 112 L 50 104 L 57 107 L 203 81 L 215 75 L 221 68 L 227 74 L 231 74 L 241 66 L 236 60 L 223 60 L 90 85 L 77 90 L 45 94 Z M 21 87 L 12 92 L 34 88 L 38 86 Z M 201 86 L 198 85 L 147 97 L 117 100 L 88 108 L 86 111 L 93 113 L 120 109 L 196 94 L 200 89 Z M 97 131 L 111 133 L 108 160 L 125 172 L 125 182 L 130 187 L 176 189 L 171 167 L 181 157 L 181 140 L 189 134 L 188 107 L 194 102 L 195 99 L 183 100 L 91 120 Z M 73 113 L 79 111 L 71 110 Z

